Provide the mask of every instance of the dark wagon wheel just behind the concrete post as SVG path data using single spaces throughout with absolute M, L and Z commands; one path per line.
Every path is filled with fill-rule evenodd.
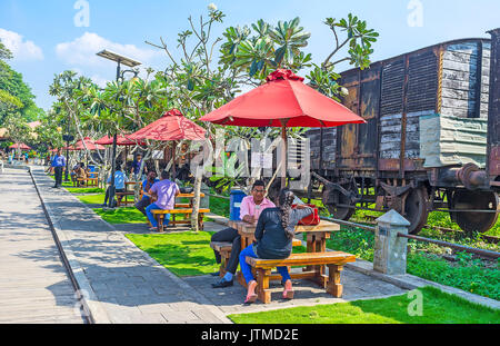
M 404 218 L 410 221 L 408 231 L 417 235 L 426 225 L 429 211 L 427 200 L 429 195 L 426 188 L 411 189 L 404 201 Z

